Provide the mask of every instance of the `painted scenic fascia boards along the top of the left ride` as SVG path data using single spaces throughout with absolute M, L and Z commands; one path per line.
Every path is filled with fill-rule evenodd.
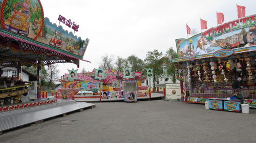
M 39 0 L 0 0 L 1 26 L 16 34 L 50 45 L 53 49 L 82 58 L 89 39 L 82 40 L 44 17 Z M 63 20 L 63 19 L 62 19 Z M 67 20 L 69 21 L 69 20 Z M 75 31 L 79 25 L 71 23 Z

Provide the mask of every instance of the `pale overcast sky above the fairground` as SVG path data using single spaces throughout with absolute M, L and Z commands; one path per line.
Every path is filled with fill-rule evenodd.
M 216 11 L 224 13 L 225 21 L 237 19 L 237 5 L 246 7 L 246 16 L 255 14 L 256 1 L 142 1 L 142 0 L 41 0 L 45 17 L 58 24 L 58 15 L 79 24 L 75 33 L 90 42 L 78 72 L 98 68 L 101 56 L 115 57 L 135 54 L 144 60 L 147 51 L 158 49 L 165 53 L 176 50 L 175 39 L 186 38 L 186 23 L 198 32 L 200 17 L 207 27 L 217 26 Z M 60 24 L 65 30 L 73 30 Z M 58 64 L 60 74 L 77 69 L 75 64 Z

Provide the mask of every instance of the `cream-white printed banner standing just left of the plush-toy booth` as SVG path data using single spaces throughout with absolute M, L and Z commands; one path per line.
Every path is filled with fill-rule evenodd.
M 166 99 L 181 99 L 180 83 L 166 83 Z

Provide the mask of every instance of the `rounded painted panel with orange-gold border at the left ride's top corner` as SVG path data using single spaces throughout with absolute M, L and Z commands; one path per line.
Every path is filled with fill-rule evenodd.
M 36 39 L 44 26 L 44 11 L 39 0 L 4 0 L 1 6 L 2 27 Z

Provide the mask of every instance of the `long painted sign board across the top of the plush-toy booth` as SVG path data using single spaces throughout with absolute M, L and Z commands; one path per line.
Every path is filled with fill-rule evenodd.
M 256 45 L 255 16 L 227 22 L 188 39 L 176 39 L 180 58 Z

